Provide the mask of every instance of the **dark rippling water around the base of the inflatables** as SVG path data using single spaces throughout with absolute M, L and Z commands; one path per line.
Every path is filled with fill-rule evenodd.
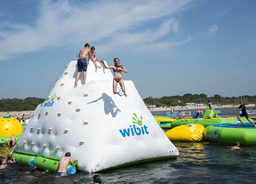
M 227 110 L 228 111 L 228 110 Z M 233 112 L 233 111 L 230 111 Z M 158 115 L 158 114 L 157 114 Z M 159 114 L 160 116 L 161 114 Z M 236 115 L 236 114 L 235 114 Z M 229 144 L 173 142 L 180 152 L 177 159 L 137 164 L 97 173 L 105 184 L 255 184 L 255 146 L 230 151 Z M 11 151 L 0 147 L 0 158 Z M 104 151 L 104 150 L 103 150 Z M 95 173 L 56 177 L 53 173 L 24 175 L 29 167 L 11 164 L 0 170 L 0 183 L 10 184 L 89 184 Z

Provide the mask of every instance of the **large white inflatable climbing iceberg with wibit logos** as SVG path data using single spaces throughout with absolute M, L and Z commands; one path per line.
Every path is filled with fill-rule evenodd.
M 178 156 L 132 81 L 124 81 L 125 98 L 113 94 L 109 69 L 88 62 L 86 84 L 81 74 L 74 88 L 76 74 L 77 61 L 71 61 L 35 109 L 16 153 L 58 160 L 70 152 L 88 173 Z

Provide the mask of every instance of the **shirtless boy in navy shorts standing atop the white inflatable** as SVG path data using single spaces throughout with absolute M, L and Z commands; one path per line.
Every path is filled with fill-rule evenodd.
M 91 52 L 90 52 L 90 45 L 86 43 L 84 45 L 84 48 L 81 49 L 79 52 L 79 58 L 77 59 L 77 67 L 78 67 L 78 72 L 76 74 L 76 83 L 75 85 L 77 86 L 77 82 L 79 79 L 79 76 L 81 72 L 83 72 L 83 84 L 85 84 L 85 79 L 86 79 L 86 71 L 87 71 L 87 54 L 88 58 L 91 58 Z

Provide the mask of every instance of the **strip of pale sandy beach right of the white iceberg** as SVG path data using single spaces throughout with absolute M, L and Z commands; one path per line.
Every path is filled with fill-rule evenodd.
M 248 104 L 248 105 L 245 105 L 245 107 L 254 107 L 255 104 Z M 239 107 L 239 105 L 236 106 L 237 108 Z M 194 110 L 194 109 L 197 109 L 197 107 L 184 107 L 184 106 L 175 106 L 175 107 L 170 107 L 170 106 L 164 106 L 164 107 L 160 107 L 160 108 L 153 108 L 153 111 L 170 111 L 171 108 L 174 108 L 174 111 L 178 111 L 178 110 Z M 199 107 L 198 106 L 198 109 L 201 108 L 201 109 L 206 109 L 206 106 L 201 106 Z M 215 109 L 218 109 L 218 108 L 233 108 L 233 105 L 221 105 L 221 106 L 213 106 L 213 108 Z M 150 111 L 152 111 L 152 108 L 149 109 Z

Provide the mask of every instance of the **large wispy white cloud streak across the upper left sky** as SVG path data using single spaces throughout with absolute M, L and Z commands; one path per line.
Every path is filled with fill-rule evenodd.
M 68 0 L 44 0 L 38 6 L 39 14 L 33 25 L 10 23 L 8 20 L 0 23 L 0 60 L 42 48 L 84 45 L 85 42 L 101 42 L 106 38 L 111 41 L 103 43 L 102 47 L 109 44 L 145 45 L 167 34 L 178 34 L 179 23 L 171 18 L 163 21 L 157 31 L 149 28 L 138 31 L 140 27 L 180 12 L 191 2 L 109 0 L 75 4 Z

